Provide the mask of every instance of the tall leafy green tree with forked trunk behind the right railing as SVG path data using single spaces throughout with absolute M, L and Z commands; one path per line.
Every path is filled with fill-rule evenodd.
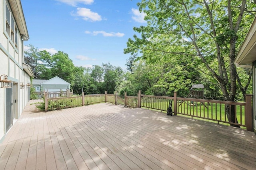
M 128 39 L 124 53 L 140 51 L 143 59 L 152 62 L 166 54 L 193 56 L 204 73 L 218 82 L 224 100 L 235 100 L 236 82 L 240 84 L 241 79 L 234 59 L 254 19 L 255 4 L 246 0 L 142 0 L 138 6 L 146 14 L 147 26 L 134 27 L 141 38 Z M 235 121 L 234 108 L 227 106 L 226 114 Z

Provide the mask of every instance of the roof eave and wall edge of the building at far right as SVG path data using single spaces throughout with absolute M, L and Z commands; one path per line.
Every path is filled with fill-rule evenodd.
M 256 133 L 256 18 L 244 39 L 240 50 L 238 51 L 235 63 L 239 67 L 252 68 L 252 87 L 253 87 L 253 127 Z

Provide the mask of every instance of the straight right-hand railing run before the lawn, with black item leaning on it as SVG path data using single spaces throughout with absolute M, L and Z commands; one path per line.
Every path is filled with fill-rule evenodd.
M 172 101 L 174 115 L 198 117 L 218 123 L 246 127 L 248 131 L 253 130 L 252 95 L 249 94 L 246 95 L 246 102 L 177 98 L 176 92 L 174 92 L 174 97 L 139 95 L 141 97 L 138 107 L 167 111 L 168 105 Z

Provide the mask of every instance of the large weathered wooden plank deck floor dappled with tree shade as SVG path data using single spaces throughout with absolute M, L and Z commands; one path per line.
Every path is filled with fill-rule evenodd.
M 0 170 L 255 170 L 256 135 L 147 109 L 27 105 L 0 144 Z

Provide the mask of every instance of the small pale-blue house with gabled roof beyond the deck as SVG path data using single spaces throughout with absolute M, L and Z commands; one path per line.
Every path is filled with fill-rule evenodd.
M 59 78 L 58 76 L 51 78 L 50 80 L 39 80 L 34 79 L 32 81 L 32 86 L 36 89 L 36 92 L 66 92 L 67 89 L 70 89 L 70 83 Z

